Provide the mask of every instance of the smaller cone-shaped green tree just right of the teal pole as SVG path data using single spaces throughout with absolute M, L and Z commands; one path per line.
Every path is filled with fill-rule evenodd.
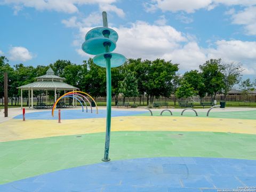
M 134 98 L 138 96 L 138 82 L 131 70 L 126 71 L 124 80 L 120 82 L 119 92 L 123 93 L 123 103 L 125 103 L 126 97 Z M 135 99 L 133 99 L 133 102 L 135 103 Z

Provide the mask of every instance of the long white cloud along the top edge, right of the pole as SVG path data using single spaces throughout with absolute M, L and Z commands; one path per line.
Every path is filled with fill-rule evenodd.
M 251 6 L 256 4 L 256 0 L 152 0 L 151 4 L 146 4 L 146 11 L 155 11 L 157 8 L 162 11 L 185 11 L 187 13 L 194 13 L 199 9 L 212 10 L 219 4 L 227 6 L 242 5 Z

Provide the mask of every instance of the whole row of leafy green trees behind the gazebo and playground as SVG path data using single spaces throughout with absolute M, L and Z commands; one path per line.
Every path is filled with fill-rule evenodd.
M 3 72 L 7 71 L 12 105 L 19 102 L 20 91 L 17 87 L 36 81 L 35 77 L 45 75 L 49 67 L 55 75 L 64 77 L 65 83 L 78 87 L 93 98 L 106 97 L 106 68 L 95 65 L 92 59 L 83 61 L 82 65 L 69 60 L 57 60 L 49 66 L 36 67 L 22 63 L 12 67 L 8 62 L 6 57 L 0 57 L 0 98 L 4 95 Z M 139 97 L 140 104 L 142 99 L 146 99 L 147 105 L 152 104 L 154 98 L 169 98 L 171 95 L 174 95 L 174 102 L 193 95 L 198 95 L 201 100 L 209 95 L 213 101 L 218 93 L 223 93 L 226 98 L 231 88 L 238 83 L 245 94 L 254 89 L 256 82 L 250 79 L 241 81 L 242 71 L 239 64 L 210 59 L 200 65 L 199 70 L 190 70 L 181 75 L 179 65 L 171 61 L 129 59 L 123 66 L 111 68 L 112 96 L 116 103 L 122 95 L 123 101 L 119 102 L 125 102 L 127 98 L 133 98 L 135 102 L 135 97 Z M 39 101 L 45 92 L 35 91 L 34 94 Z M 27 93 L 23 97 L 27 97 Z

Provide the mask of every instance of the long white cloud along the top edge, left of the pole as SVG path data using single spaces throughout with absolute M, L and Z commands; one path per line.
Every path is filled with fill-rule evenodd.
M 12 5 L 14 14 L 17 14 L 22 9 L 22 7 L 33 7 L 40 11 L 51 10 L 65 13 L 75 13 L 78 12 L 77 5 L 84 4 L 105 4 L 110 6 L 109 9 L 114 9 L 114 12 L 121 12 L 120 9 L 117 7 L 115 8 L 114 5 L 110 5 L 111 3 L 115 2 L 116 0 L 2 0 L 0 5 Z

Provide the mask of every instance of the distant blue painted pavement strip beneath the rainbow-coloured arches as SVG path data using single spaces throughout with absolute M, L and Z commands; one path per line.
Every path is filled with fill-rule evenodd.
M 147 111 L 111 111 L 111 117 L 119 117 L 119 116 L 132 116 L 145 114 Z M 61 119 L 82 119 L 82 118 L 103 118 L 106 117 L 106 110 L 98 110 L 98 114 L 96 114 L 96 110 L 86 110 L 82 112 L 82 110 L 61 110 Z M 13 117 L 15 119 L 22 119 L 22 115 L 17 115 Z M 54 117 L 52 117 L 52 111 L 38 111 L 35 113 L 27 113 L 26 119 L 58 119 L 58 110 L 54 111 Z

